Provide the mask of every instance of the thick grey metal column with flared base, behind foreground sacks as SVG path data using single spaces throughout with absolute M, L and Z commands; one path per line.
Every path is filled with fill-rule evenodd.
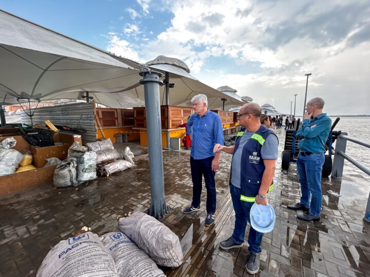
M 149 151 L 149 176 L 151 185 L 151 204 L 149 214 L 154 217 L 167 215 L 168 207 L 164 199 L 163 157 L 161 116 L 159 103 L 159 77 L 162 73 L 143 71 L 139 73 L 144 85 L 146 130 Z

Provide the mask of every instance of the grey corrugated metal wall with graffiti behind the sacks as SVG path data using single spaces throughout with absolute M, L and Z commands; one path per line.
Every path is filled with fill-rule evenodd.
M 82 143 L 96 141 L 97 130 L 93 103 L 73 103 L 37 108 L 32 117 L 33 124 L 44 124 L 46 120 L 50 120 L 54 125 L 79 129 L 75 133 L 81 135 Z M 31 124 L 29 116 L 24 111 L 22 111 L 22 123 Z

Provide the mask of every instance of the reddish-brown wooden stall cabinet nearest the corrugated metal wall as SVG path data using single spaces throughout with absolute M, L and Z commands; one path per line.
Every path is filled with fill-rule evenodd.
M 133 109 L 96 109 L 102 127 L 134 126 Z

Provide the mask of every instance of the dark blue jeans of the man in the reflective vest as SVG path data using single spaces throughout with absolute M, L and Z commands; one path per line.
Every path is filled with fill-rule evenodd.
M 232 239 L 236 244 L 244 243 L 245 229 L 248 221 L 250 222 L 250 209 L 254 202 L 245 202 L 240 200 L 241 189 L 230 185 L 231 199 L 235 211 L 235 228 L 232 234 Z M 253 253 L 261 253 L 263 233 L 257 232 L 250 227 L 248 234 L 248 251 Z

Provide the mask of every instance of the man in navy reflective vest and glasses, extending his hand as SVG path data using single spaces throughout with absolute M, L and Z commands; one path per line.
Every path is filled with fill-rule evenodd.
M 257 104 L 243 105 L 238 115 L 243 127 L 235 145 L 215 145 L 214 151 L 233 154 L 230 174 L 230 193 L 235 211 L 235 228 L 232 236 L 220 243 L 221 249 L 242 247 L 250 210 L 254 202 L 267 205 L 267 194 L 273 188 L 272 179 L 278 159 L 278 137 L 260 122 L 261 108 Z M 255 274 L 260 269 L 263 233 L 250 228 L 248 235 L 249 257 L 246 269 Z

